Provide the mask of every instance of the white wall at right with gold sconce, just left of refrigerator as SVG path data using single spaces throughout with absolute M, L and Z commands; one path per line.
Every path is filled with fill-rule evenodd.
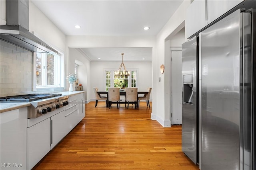
M 170 57 L 170 46 L 166 47 L 166 39 L 175 35 L 184 27 L 186 8 L 190 5 L 190 1 L 182 2 L 181 6 L 161 29 L 156 36 L 156 56 L 152 59 L 153 63 L 153 86 L 155 91 L 152 95 L 152 114 L 162 126 L 170 127 L 170 102 L 166 103 L 166 100 L 170 100 L 170 72 L 164 72 L 161 74 L 159 67 L 164 63 L 165 66 L 170 66 L 170 60 L 166 57 Z M 170 44 L 170 42 L 168 43 Z M 168 56 L 165 56 L 165 52 L 168 51 Z M 158 77 L 161 78 L 161 82 L 158 82 Z M 167 90 L 169 89 L 169 90 Z M 154 98 L 156 101 L 154 101 Z

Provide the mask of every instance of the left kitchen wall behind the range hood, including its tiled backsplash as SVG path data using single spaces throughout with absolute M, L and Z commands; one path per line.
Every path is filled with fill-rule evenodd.
M 1 0 L 1 25 L 6 24 L 6 1 Z M 34 4 L 29 1 L 29 26 L 30 32 L 35 33 L 40 39 L 65 52 L 66 36 L 54 23 L 52 23 Z M 1 96 L 11 96 L 18 93 L 32 92 L 33 60 L 32 53 L 16 45 L 1 41 Z M 43 92 L 43 91 L 41 91 Z M 49 92 L 49 90 L 47 90 Z

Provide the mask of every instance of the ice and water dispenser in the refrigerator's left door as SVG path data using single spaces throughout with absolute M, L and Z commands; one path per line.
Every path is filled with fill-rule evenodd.
M 183 75 L 183 102 L 194 104 L 193 101 L 193 74 Z

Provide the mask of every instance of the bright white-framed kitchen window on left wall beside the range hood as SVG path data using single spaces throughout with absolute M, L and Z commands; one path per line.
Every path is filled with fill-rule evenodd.
M 60 55 L 36 53 L 36 88 L 60 87 L 61 63 Z

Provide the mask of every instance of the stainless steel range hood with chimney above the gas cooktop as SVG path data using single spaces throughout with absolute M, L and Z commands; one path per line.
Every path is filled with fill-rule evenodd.
M 28 51 L 58 53 L 29 30 L 28 0 L 6 0 L 6 23 L 0 26 L 0 39 Z

